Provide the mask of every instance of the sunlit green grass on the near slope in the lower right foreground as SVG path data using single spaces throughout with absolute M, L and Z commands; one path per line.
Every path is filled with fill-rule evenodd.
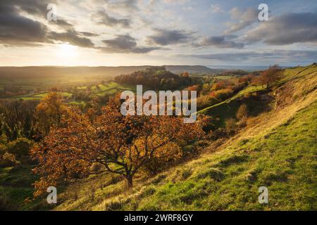
M 268 134 L 170 169 L 138 194 L 104 205 L 117 205 L 117 210 L 317 210 L 316 109 L 313 103 Z M 265 205 L 258 202 L 261 186 L 268 188 Z

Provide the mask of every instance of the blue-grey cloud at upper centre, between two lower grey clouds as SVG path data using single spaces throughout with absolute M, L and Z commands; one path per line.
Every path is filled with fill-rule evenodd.
M 156 34 L 148 37 L 150 44 L 166 46 L 169 44 L 180 44 L 190 40 L 192 33 L 183 30 L 155 29 Z

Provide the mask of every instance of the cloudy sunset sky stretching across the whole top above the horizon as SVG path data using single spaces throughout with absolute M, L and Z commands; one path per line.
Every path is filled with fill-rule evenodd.
M 307 65 L 317 1 L 1 0 L 0 53 L 0 66 Z

